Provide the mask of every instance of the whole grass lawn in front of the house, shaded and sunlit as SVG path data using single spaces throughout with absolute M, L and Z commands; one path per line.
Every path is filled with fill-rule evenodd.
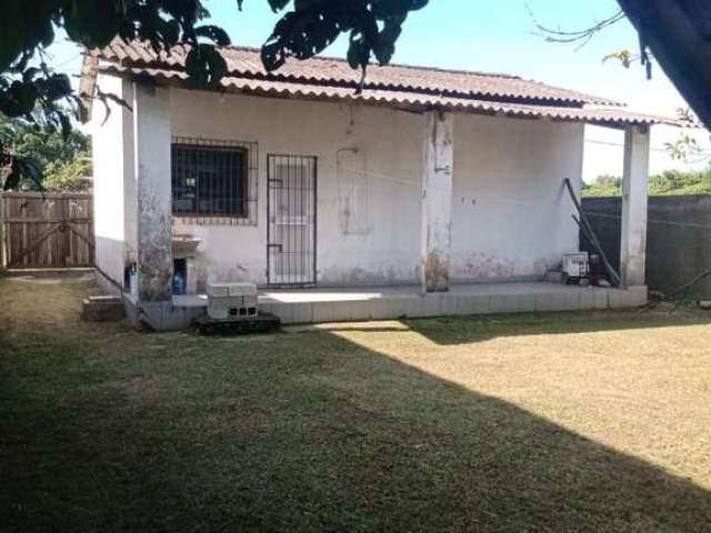
M 0 279 L 2 531 L 711 531 L 711 316 L 78 320 Z

